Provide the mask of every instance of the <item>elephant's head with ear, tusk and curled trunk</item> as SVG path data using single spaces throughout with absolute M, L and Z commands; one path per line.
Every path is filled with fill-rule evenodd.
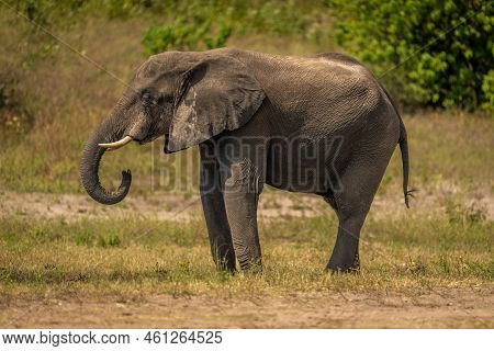
M 89 138 L 80 162 L 82 185 L 102 204 L 115 204 L 128 192 L 131 171 L 122 172 L 116 191 L 104 189 L 98 170 L 105 150 L 165 135 L 165 152 L 189 148 L 223 131 L 246 124 L 265 93 L 248 67 L 223 50 L 170 52 L 141 66 L 110 116 Z

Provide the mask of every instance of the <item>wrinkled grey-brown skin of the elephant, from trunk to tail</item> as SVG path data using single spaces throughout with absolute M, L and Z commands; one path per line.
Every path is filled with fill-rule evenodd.
M 336 211 L 339 227 L 327 264 L 332 271 L 359 268 L 360 228 L 397 144 L 407 204 L 403 122 L 369 70 L 344 55 L 281 57 L 216 49 L 150 57 L 85 148 L 80 173 L 89 195 L 114 204 L 131 184 L 125 171 L 115 192 L 100 185 L 104 149 L 99 143 L 124 136 L 147 143 L 162 135 L 166 154 L 200 146 L 201 199 L 220 268 L 235 270 L 236 260 L 240 269 L 261 263 L 257 204 L 265 183 L 316 193 Z M 280 137 L 339 144 L 333 155 L 318 157 L 324 167 L 316 168 L 314 160 L 297 161 L 277 143 Z M 318 173 L 301 176 L 313 169 Z

